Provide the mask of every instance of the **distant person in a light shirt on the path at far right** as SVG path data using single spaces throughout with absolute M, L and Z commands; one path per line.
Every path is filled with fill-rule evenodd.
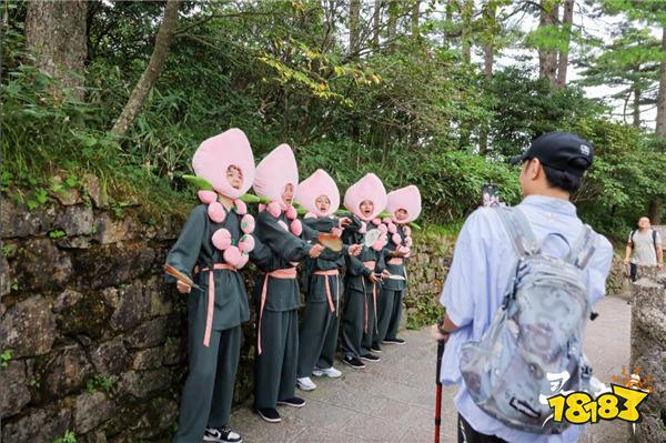
M 625 265 L 629 265 L 629 279 L 636 281 L 638 265 L 664 266 L 664 250 L 662 249 L 662 236 L 652 228 L 649 219 L 638 219 L 638 229 L 629 232 L 627 248 L 625 250 Z

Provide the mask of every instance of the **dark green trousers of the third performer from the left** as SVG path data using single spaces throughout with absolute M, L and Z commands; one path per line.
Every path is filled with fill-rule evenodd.
M 299 331 L 299 379 L 319 368 L 333 366 L 340 321 L 327 302 L 307 302 Z

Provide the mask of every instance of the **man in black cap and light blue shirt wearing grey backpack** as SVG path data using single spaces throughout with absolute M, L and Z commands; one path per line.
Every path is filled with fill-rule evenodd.
M 553 380 L 562 381 L 561 389 L 574 391 L 586 377 L 581 334 L 569 332 L 582 332 L 591 304 L 604 296 L 613 258 L 608 240 L 583 224 L 569 202 L 592 160 L 592 144 L 575 134 L 537 138 L 512 159 L 522 165 L 525 199 L 511 209 L 480 208 L 463 225 L 442 292 L 446 315 L 438 328 L 440 339 L 447 341 L 441 380 L 460 386 L 458 442 L 553 443 L 578 437 L 582 427 L 574 425 L 554 426 L 559 434 L 544 434 L 553 421 L 547 422 L 551 411 L 543 402 L 561 392 L 553 392 L 551 376 L 559 376 Z M 542 272 L 538 284 L 551 286 L 521 285 L 543 270 L 551 272 Z M 554 274 L 567 285 L 558 286 Z M 527 293 L 535 288 L 542 292 Z M 507 318 L 508 312 L 533 313 L 537 308 L 542 318 Z M 515 332 L 522 328 L 528 332 Z M 512 348 L 519 340 L 524 358 Z M 564 361 L 572 369 L 546 376 L 544 370 Z

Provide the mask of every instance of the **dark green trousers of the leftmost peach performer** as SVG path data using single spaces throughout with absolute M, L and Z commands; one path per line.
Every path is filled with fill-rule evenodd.
M 202 344 L 205 322 L 190 322 L 190 372 L 181 397 L 175 443 L 201 443 L 206 426 L 229 424 L 233 385 L 241 352 L 241 326 L 212 331 Z

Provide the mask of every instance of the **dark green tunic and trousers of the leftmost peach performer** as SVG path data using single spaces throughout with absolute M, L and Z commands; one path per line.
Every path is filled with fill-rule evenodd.
M 250 316 L 248 296 L 241 275 L 231 270 L 213 271 L 214 310 L 209 345 L 203 344 L 208 315 L 210 271 L 214 263 L 223 263 L 222 253 L 213 245 L 212 235 L 221 228 L 229 230 L 234 244 L 242 236 L 239 217 L 228 211 L 222 223 L 208 217 L 208 207 L 201 204 L 192 211 L 183 230 L 167 255 L 167 263 L 185 273 L 201 286 L 192 288 L 188 298 L 188 356 L 190 371 L 179 416 L 174 442 L 200 443 L 206 426 L 229 423 L 233 400 L 233 385 L 241 348 L 241 322 Z M 271 251 L 255 241 L 251 259 L 269 262 Z M 200 272 L 194 273 L 194 266 Z M 168 278 L 174 281 L 172 278 Z

